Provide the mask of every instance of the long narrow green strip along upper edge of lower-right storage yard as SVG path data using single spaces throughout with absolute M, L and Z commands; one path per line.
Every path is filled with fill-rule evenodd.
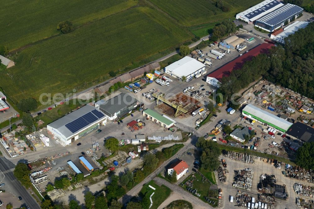
M 257 151 L 253 151 L 253 150 L 249 150 L 249 149 L 244 149 L 244 148 L 240 148 L 240 147 L 230 147 L 230 146 L 226 146 L 223 144 L 218 144 L 218 147 L 220 147 L 220 150 L 227 150 L 227 151 L 232 151 L 232 152 L 238 152 L 238 153 L 247 153 L 250 155 L 254 155 L 257 157 L 261 157 L 261 158 L 270 158 L 270 159 L 276 159 L 279 161 L 282 161 L 284 163 L 289 163 L 290 165 L 296 165 L 293 161 L 286 159 L 286 158 L 282 158 L 276 155 L 270 155 L 270 154 L 265 154 L 265 153 L 260 153 Z

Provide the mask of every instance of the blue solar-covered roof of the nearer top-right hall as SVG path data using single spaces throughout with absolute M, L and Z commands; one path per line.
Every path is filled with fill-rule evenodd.
M 273 26 L 284 22 L 292 15 L 300 13 L 302 11 L 303 8 L 299 6 L 293 4 L 285 4 L 284 6 L 258 19 L 257 21 Z

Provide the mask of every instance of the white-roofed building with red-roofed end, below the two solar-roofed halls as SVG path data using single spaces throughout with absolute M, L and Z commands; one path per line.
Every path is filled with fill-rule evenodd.
M 290 34 L 294 34 L 296 31 L 298 31 L 300 28 L 305 28 L 309 22 L 305 21 L 295 21 L 294 23 L 288 25 L 284 29 L 279 29 L 278 31 L 275 31 L 270 35 L 270 38 L 272 40 L 275 40 L 279 43 L 284 44 L 284 39 L 288 37 Z

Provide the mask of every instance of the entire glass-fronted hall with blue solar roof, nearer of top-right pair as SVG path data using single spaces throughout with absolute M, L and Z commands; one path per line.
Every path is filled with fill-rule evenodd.
M 283 26 L 286 20 L 290 21 L 293 17 L 297 17 L 301 13 L 303 13 L 301 7 L 293 4 L 285 4 L 262 18 L 257 19 L 255 26 L 273 32 L 275 29 Z

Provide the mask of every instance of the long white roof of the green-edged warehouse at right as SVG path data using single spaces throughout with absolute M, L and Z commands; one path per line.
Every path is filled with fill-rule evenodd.
M 287 131 L 293 123 L 290 123 L 282 118 L 277 117 L 265 110 L 262 110 L 254 105 L 246 105 L 242 111 L 245 111 L 251 115 L 254 115 L 263 121 L 271 123 L 285 131 Z

